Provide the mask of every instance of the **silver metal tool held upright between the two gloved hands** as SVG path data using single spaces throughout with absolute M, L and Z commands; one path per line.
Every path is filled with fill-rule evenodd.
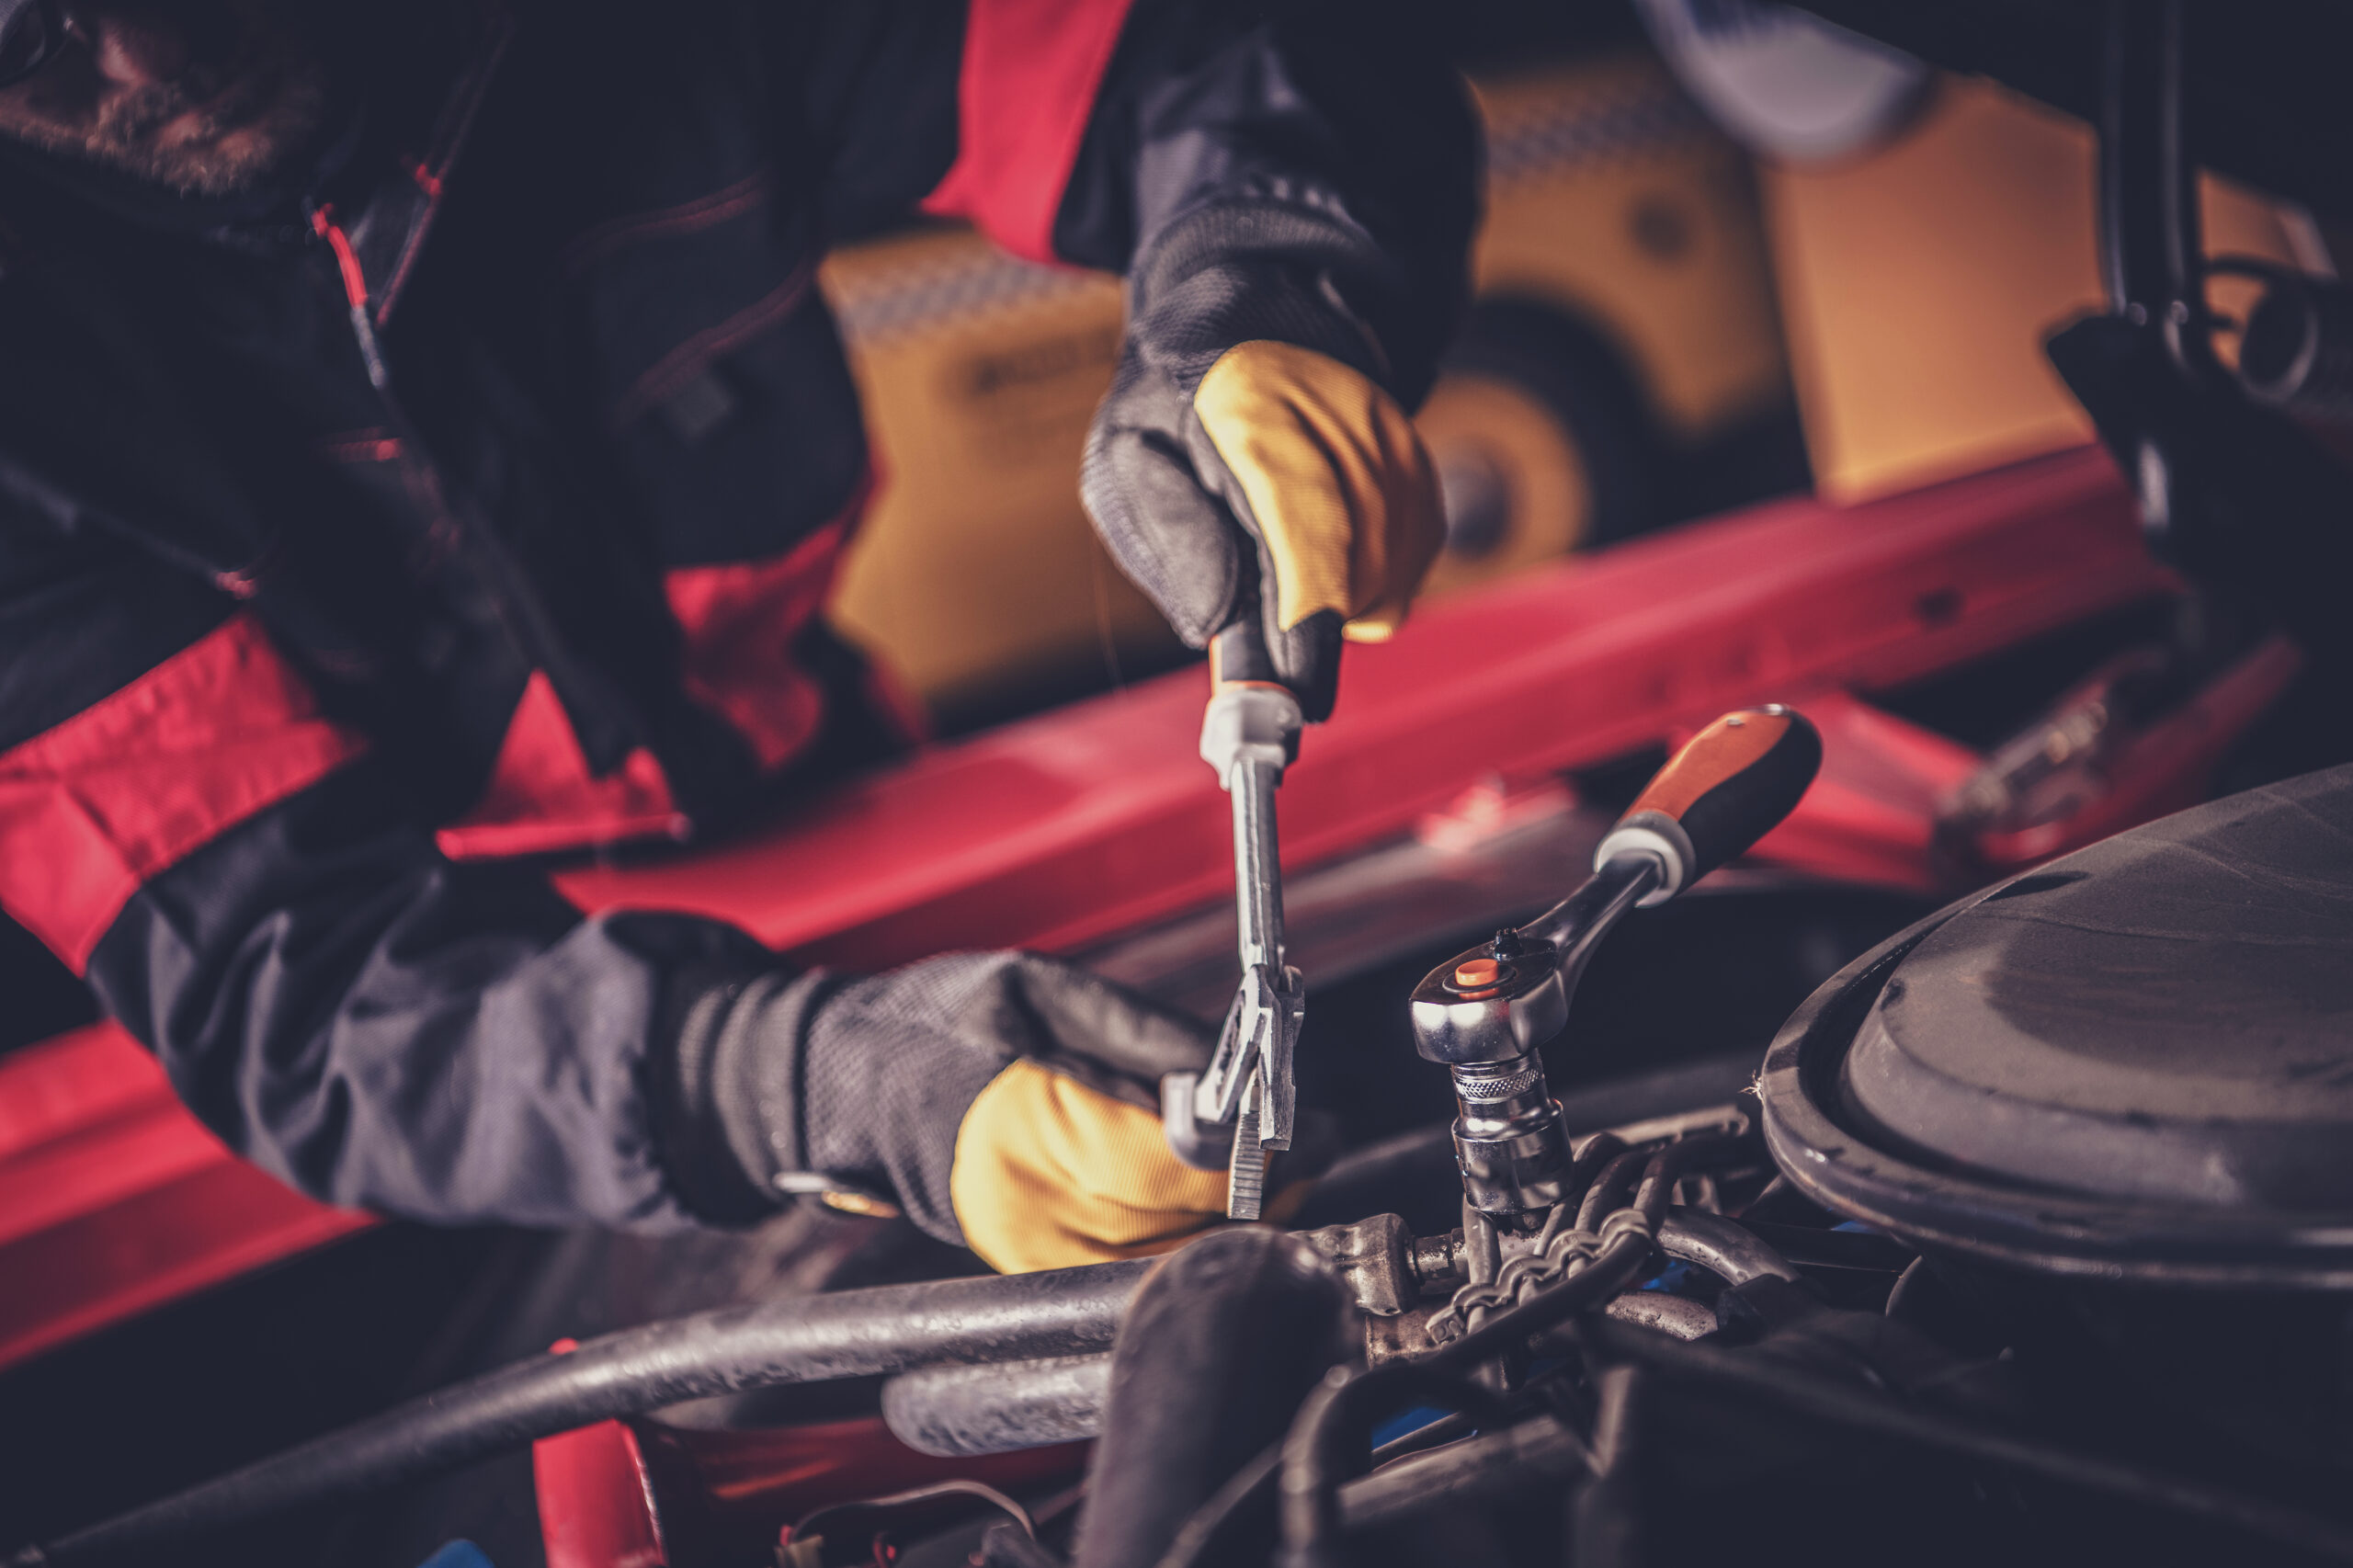
M 1299 699 L 1275 678 L 1252 610 L 1209 643 L 1209 706 L 1200 725 L 1200 758 L 1233 798 L 1242 984 L 1209 1067 L 1198 1078 L 1169 1074 L 1160 1081 L 1169 1147 L 1188 1163 L 1226 1165 L 1226 1215 L 1233 1220 L 1259 1217 L 1266 1151 L 1292 1147 L 1292 1052 L 1308 998 L 1282 951 L 1275 786 L 1299 756 L 1301 725 Z

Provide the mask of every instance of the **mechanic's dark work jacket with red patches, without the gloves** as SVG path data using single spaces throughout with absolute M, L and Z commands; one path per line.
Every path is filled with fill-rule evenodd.
M 0 906 L 304 1191 L 725 1208 L 666 1031 L 765 954 L 496 857 L 711 833 L 887 744 L 819 619 L 868 464 L 816 259 L 925 207 L 1125 268 L 1205 205 L 1306 205 L 1362 238 L 1339 285 L 1412 398 L 1471 132 L 1369 21 L 485 5 L 372 40 L 264 210 L 14 158 Z

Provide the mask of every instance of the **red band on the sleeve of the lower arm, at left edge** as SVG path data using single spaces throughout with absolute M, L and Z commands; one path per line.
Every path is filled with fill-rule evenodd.
M 0 753 L 0 906 L 80 972 L 148 878 L 365 746 L 238 612 Z

